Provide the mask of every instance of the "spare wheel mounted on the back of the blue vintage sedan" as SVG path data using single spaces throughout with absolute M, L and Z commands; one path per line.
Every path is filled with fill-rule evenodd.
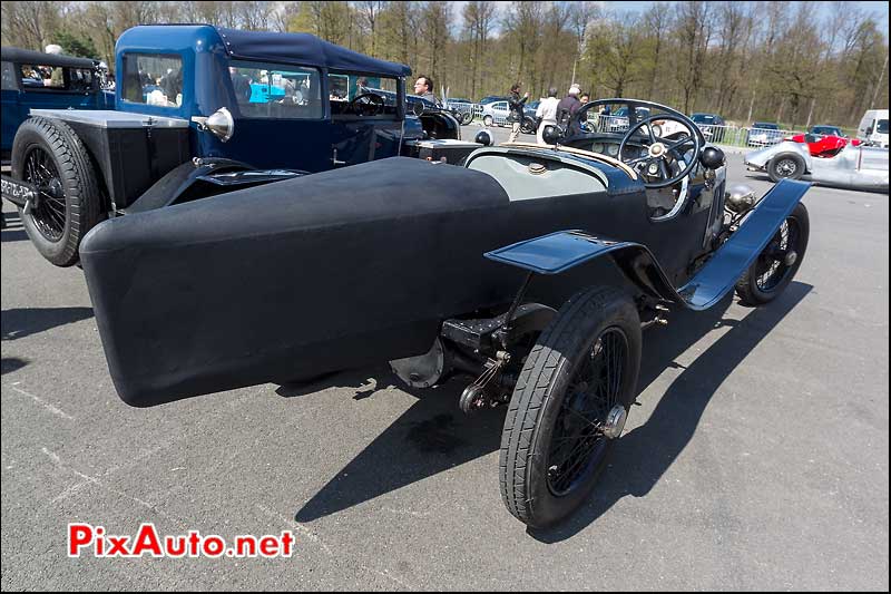
M 28 118 L 12 142 L 12 177 L 41 189 L 29 214 L 19 208 L 37 251 L 57 266 L 76 264 L 80 240 L 101 218 L 99 184 L 87 147 L 63 121 Z

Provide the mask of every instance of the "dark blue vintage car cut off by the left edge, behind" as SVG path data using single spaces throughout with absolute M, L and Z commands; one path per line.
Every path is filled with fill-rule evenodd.
M 2 61 L 2 159 L 30 109 L 114 109 L 114 95 L 102 92 L 99 60 L 0 49 Z

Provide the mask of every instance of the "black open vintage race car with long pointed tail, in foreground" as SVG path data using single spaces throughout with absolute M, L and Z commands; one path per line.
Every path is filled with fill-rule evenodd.
M 695 124 L 634 105 L 658 114 L 588 149 L 393 157 L 100 223 L 80 257 L 118 393 L 147 407 L 381 361 L 415 388 L 469 376 L 462 410 L 508 406 L 508 509 L 559 520 L 621 435 L 642 329 L 734 288 L 766 304 L 807 246 L 809 184 L 726 192 Z

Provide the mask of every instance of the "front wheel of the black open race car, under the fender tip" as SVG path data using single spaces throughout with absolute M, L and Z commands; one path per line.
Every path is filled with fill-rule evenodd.
M 804 261 L 810 235 L 807 208 L 799 203 L 755 262 L 736 282 L 740 302 L 743 305 L 757 306 L 780 296 Z M 790 263 L 791 253 L 795 255 Z

